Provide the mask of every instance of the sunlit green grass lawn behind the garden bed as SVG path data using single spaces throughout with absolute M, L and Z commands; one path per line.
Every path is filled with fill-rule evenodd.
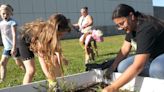
M 123 39 L 123 35 L 104 37 L 104 42 L 98 43 L 99 57 L 96 57 L 95 62 L 100 63 L 106 59 L 115 57 L 122 45 Z M 2 48 L 0 47 L 0 52 L 2 52 Z M 69 65 L 64 66 L 65 75 L 84 72 L 84 52 L 79 45 L 78 39 L 62 40 L 62 48 L 65 57 L 69 60 Z M 9 60 L 7 69 L 6 79 L 3 83 L 0 83 L 0 88 L 20 85 L 23 80 L 24 71 L 16 66 L 13 59 Z M 43 79 L 45 79 L 45 76 L 36 57 L 36 73 L 33 81 Z

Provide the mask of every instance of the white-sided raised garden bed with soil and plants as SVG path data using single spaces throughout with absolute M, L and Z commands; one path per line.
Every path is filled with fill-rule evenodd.
M 72 92 L 101 92 L 99 90 L 104 88 L 106 83 L 110 84 L 120 75 L 120 73 L 113 73 L 112 79 L 106 80 L 103 78 L 102 70 L 92 70 L 65 76 L 64 78 L 57 78 L 57 82 L 63 92 L 66 92 L 64 88 L 62 88 L 63 84 L 65 87 L 75 90 Z M 61 90 L 60 92 L 62 92 Z M 164 80 L 138 76 L 124 85 L 121 90 L 123 91 L 120 92 L 164 92 Z M 4 88 L 0 89 L 0 92 L 47 92 L 47 82 L 43 80 L 27 85 Z

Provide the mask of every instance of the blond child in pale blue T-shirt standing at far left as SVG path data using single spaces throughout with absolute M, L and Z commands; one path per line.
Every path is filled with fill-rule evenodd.
M 9 59 L 9 56 L 13 56 L 16 64 L 22 68 L 24 65 L 22 61 L 20 61 L 19 51 L 17 49 L 16 41 L 17 41 L 17 23 L 11 18 L 13 15 L 13 8 L 10 5 L 2 4 L 0 6 L 0 16 L 2 21 L 0 22 L 0 31 L 2 36 L 2 43 L 4 46 L 4 50 L 1 57 L 0 62 L 0 81 L 2 82 L 6 75 L 6 65 Z

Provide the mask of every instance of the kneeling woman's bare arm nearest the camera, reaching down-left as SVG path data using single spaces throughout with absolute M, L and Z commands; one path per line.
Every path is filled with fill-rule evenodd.
M 127 70 L 111 86 L 118 90 L 120 87 L 132 80 L 142 71 L 149 56 L 149 54 L 136 55 L 134 63 L 130 65 Z

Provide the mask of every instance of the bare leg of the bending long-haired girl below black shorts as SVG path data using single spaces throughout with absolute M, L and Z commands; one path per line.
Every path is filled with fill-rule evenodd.
M 35 61 L 34 61 L 34 59 L 29 59 L 29 60 L 23 61 L 23 64 L 26 69 L 26 73 L 23 78 L 23 85 L 24 85 L 24 84 L 28 84 L 32 81 L 32 78 L 35 74 Z

